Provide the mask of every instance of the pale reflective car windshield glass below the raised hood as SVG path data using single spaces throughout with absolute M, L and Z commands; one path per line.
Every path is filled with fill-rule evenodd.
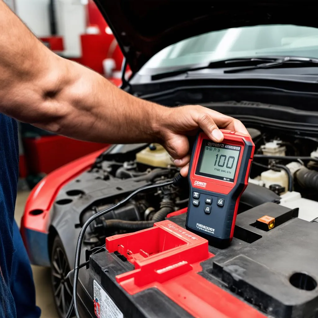
M 170 45 L 141 69 L 183 68 L 224 59 L 260 56 L 318 58 L 318 29 L 259 25 L 201 34 Z

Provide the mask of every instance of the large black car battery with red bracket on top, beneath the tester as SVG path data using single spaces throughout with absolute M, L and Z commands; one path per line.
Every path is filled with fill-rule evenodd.
M 185 230 L 185 215 L 108 237 L 80 281 L 81 317 L 317 317 L 318 223 L 297 213 L 245 211 L 223 250 Z

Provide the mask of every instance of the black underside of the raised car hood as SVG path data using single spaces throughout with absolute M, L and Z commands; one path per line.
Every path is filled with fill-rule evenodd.
M 134 73 L 163 48 L 205 32 L 259 24 L 318 26 L 311 1 L 94 2 L 112 29 Z

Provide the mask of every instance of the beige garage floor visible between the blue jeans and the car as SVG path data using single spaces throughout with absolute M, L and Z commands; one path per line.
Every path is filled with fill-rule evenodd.
M 14 215 L 18 225 L 20 225 L 20 220 L 24 211 L 25 201 L 28 195 L 29 191 L 18 192 L 16 210 Z M 32 271 L 36 289 L 37 305 L 42 310 L 41 317 L 58 318 L 55 305 L 53 302 L 50 269 L 46 267 L 32 265 Z

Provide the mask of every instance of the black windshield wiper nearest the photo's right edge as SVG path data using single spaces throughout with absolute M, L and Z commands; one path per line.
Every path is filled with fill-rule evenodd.
M 239 73 L 256 69 L 279 67 L 318 67 L 318 59 L 302 58 L 302 57 L 284 57 L 269 63 L 260 63 L 253 66 L 239 66 L 224 70 L 224 73 Z

